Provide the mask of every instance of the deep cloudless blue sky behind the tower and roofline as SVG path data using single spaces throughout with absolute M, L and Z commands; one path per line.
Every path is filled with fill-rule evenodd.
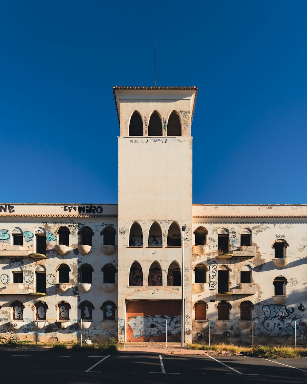
M 197 86 L 195 204 L 304 204 L 307 2 L 0 3 L 1 202 L 117 203 L 114 85 Z M 180 164 L 178 164 L 180 166 Z

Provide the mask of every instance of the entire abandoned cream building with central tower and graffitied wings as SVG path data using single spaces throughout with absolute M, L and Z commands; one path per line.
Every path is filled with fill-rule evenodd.
M 183 281 L 185 342 L 305 343 L 307 205 L 193 205 L 197 88 L 113 91 L 118 205 L 0 205 L 0 333 L 180 341 Z

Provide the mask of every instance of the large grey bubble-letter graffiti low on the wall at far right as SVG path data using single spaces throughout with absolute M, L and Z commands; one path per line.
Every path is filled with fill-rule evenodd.
M 255 336 L 294 338 L 295 327 L 297 336 L 307 335 L 307 324 L 302 321 L 304 315 L 294 313 L 294 308 L 271 304 L 262 306 L 261 311 L 264 316 L 254 318 Z

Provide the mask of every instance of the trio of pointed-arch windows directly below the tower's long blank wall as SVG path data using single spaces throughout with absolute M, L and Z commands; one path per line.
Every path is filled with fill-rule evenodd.
M 177 223 L 172 222 L 167 232 L 167 239 L 162 237 L 162 229 L 158 222 L 152 223 L 149 229 L 148 242 L 145 247 L 162 247 L 163 241 L 167 240 L 167 247 L 181 247 L 182 238 L 180 227 Z M 129 233 L 129 247 L 143 247 L 143 231 L 139 223 L 132 224 Z

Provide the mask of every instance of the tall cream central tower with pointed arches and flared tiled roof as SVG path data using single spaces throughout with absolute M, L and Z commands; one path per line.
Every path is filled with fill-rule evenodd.
M 118 137 L 119 340 L 190 339 L 196 87 L 114 87 Z

